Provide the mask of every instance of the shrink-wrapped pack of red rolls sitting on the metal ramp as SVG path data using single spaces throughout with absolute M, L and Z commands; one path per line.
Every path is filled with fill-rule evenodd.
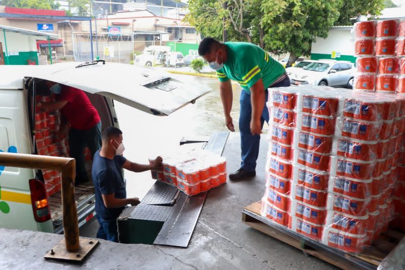
M 149 159 L 153 164 L 154 159 Z M 194 196 L 226 182 L 226 159 L 208 150 L 181 150 L 163 156 L 163 170 L 152 178 Z

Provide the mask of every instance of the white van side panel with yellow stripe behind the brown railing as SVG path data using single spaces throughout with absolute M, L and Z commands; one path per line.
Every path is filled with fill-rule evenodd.
M 0 89 L 1 151 L 32 153 L 27 115 L 24 90 Z M 0 227 L 38 230 L 45 226 L 53 232 L 51 220 L 40 224 L 34 219 L 28 182 L 33 178 L 32 169 L 0 166 Z

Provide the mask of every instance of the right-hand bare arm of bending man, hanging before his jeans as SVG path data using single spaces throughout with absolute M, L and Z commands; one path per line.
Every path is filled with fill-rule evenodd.
M 260 118 L 263 113 L 266 94 L 264 92 L 263 80 L 260 79 L 251 88 L 251 103 L 252 103 L 252 120 L 250 122 L 250 131 L 252 135 L 260 135 L 262 133 L 262 124 Z

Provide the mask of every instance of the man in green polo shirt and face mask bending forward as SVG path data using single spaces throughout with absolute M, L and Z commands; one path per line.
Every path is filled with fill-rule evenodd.
M 230 115 L 232 108 L 232 85 L 229 79 L 240 84 L 239 132 L 240 168 L 229 175 L 231 180 L 241 180 L 256 175 L 256 160 L 259 156 L 260 134 L 264 121 L 269 121 L 265 106 L 268 88 L 290 86 L 286 69 L 260 47 L 245 42 L 224 44 L 211 37 L 204 38 L 198 47 L 212 69 L 217 71 L 220 95 L 225 113 L 225 124 L 235 131 Z

